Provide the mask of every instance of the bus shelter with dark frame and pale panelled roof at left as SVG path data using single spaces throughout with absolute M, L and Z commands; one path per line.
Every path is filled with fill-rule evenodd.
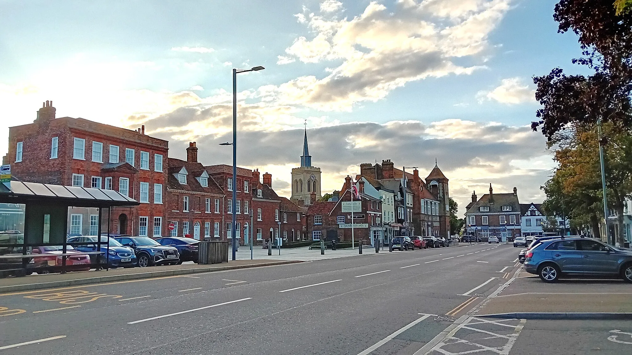
M 0 183 L 0 277 L 109 268 L 111 208 L 138 204 L 114 190 Z M 80 252 L 72 236 L 97 238 Z

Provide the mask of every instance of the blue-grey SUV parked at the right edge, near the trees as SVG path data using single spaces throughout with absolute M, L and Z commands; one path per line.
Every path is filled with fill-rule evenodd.
M 632 283 L 632 250 L 591 238 L 554 238 L 539 241 L 526 253 L 525 270 L 544 282 L 564 276 L 615 276 Z

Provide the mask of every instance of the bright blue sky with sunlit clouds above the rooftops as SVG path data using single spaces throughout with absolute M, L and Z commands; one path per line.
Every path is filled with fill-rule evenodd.
M 435 159 L 465 212 L 473 191 L 542 202 L 554 161 L 530 129 L 532 77 L 580 57 L 557 33 L 554 1 L 0 0 L 0 155 L 8 127 L 42 102 L 169 140 L 186 159 L 231 164 L 231 69 L 238 75 L 238 165 L 290 195 L 307 123 L 322 191 L 363 162 Z

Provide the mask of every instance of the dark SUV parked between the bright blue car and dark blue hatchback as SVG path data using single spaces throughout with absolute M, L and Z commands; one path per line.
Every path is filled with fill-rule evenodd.
M 138 267 L 181 264 L 180 253 L 173 246 L 164 246 L 149 237 L 114 238 L 124 246 L 130 246 L 138 259 Z

